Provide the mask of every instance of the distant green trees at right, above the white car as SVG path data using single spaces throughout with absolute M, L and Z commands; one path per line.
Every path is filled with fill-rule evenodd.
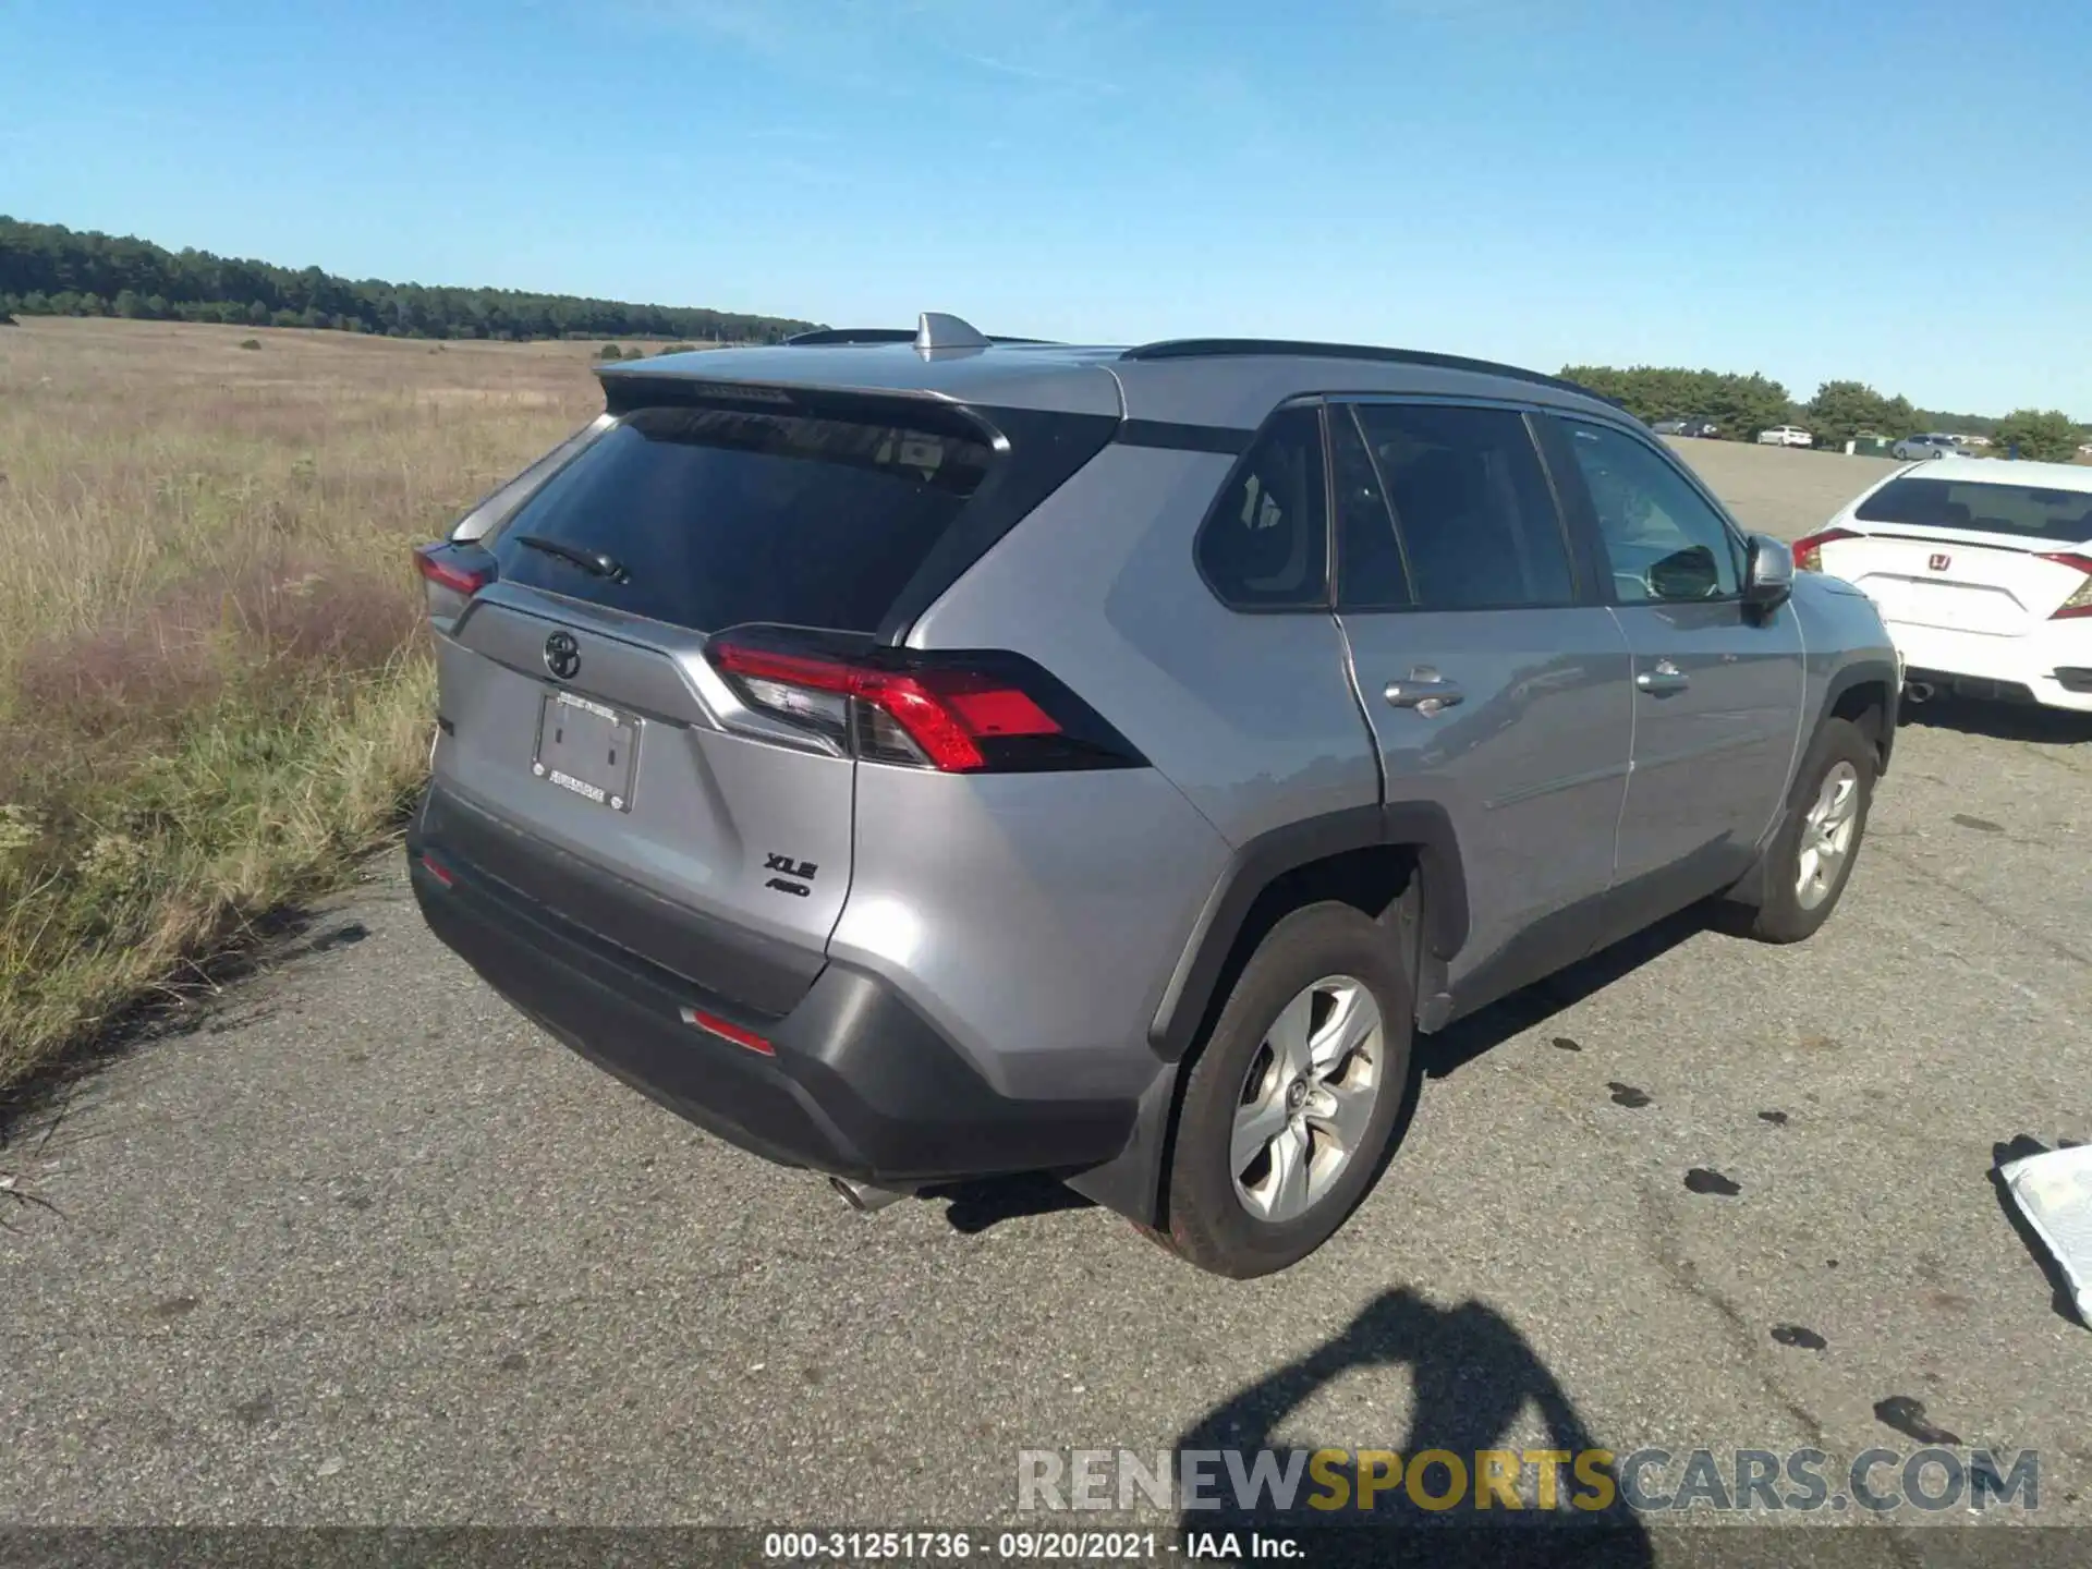
M 1956 435 L 1987 435 L 1998 450 L 2019 448 L 2023 458 L 2069 462 L 2077 446 L 2092 439 L 2092 427 L 2082 427 L 2061 410 L 2017 408 L 2004 416 L 1950 414 L 1937 408 L 1914 408 L 1904 395 L 1885 397 L 1864 381 L 1826 381 L 1805 404 L 1778 381 L 1764 374 L 1722 370 L 1682 370 L 1672 366 L 1573 364 L 1563 366 L 1567 381 L 1611 397 L 1640 420 L 1703 418 L 1720 427 L 1726 441 L 1753 441 L 1774 425 L 1799 425 L 1818 446 L 1843 448 L 1847 441 L 1881 435 L 1900 441 L 1923 431 Z

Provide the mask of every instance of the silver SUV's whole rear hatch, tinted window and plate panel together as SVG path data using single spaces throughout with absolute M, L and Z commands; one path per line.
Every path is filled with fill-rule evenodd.
M 439 663 L 425 837 L 462 874 L 782 1015 L 849 889 L 856 757 L 883 741 L 925 761 L 906 711 L 872 734 L 889 699 L 856 663 L 950 575 L 969 508 L 1021 515 L 1042 473 L 1013 487 L 1006 433 L 943 400 L 617 391 L 619 418 L 498 533 L 420 552 Z M 1044 479 L 1109 427 L 1075 448 L 1056 431 Z M 1008 724 L 996 682 L 967 680 L 975 707 L 941 715 L 960 766 L 967 711 L 975 764 L 1000 745 L 981 724 Z

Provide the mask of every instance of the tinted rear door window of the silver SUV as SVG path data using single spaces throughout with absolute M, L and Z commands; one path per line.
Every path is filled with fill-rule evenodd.
M 1360 404 L 1423 611 L 1575 602 L 1554 494 L 1525 416 L 1506 408 Z

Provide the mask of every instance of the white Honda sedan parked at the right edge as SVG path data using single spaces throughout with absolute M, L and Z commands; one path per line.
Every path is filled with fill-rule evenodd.
M 2092 467 L 1933 458 L 1795 542 L 1881 609 L 1912 697 L 2092 713 Z

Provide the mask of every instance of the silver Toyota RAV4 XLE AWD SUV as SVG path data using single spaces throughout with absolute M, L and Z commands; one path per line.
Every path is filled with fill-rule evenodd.
M 1807 937 L 1851 874 L 1872 605 L 1565 381 L 935 314 L 600 377 L 418 550 L 414 891 L 860 1207 L 1052 1172 L 1284 1268 L 1416 1031 L 1711 895 Z

